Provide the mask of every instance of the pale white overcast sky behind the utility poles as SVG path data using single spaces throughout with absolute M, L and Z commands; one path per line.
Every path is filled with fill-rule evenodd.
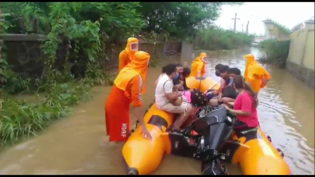
M 236 30 L 246 30 L 247 20 L 249 20 L 249 33 L 265 34 L 262 20 L 270 18 L 278 23 L 289 27 L 304 22 L 314 16 L 314 2 L 250 2 L 242 6 L 222 6 L 221 16 L 215 22 L 216 25 L 224 29 L 233 29 L 232 18 L 237 13 Z

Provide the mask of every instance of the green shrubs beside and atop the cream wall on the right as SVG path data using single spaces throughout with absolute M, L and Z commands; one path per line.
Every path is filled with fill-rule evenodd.
M 275 21 L 273 24 L 277 26 L 283 33 L 290 34 L 290 29 Z M 271 63 L 280 68 L 285 67 L 288 59 L 291 40 L 277 42 L 275 39 L 268 39 L 259 43 L 260 47 L 265 51 L 266 55 L 260 57 L 259 61 L 263 63 Z

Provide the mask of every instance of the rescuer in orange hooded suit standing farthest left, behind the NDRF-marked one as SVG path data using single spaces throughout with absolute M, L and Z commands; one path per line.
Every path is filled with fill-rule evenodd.
M 135 37 L 129 37 L 126 48 L 120 52 L 118 61 L 118 71 L 121 71 L 135 55 L 139 49 L 139 40 Z

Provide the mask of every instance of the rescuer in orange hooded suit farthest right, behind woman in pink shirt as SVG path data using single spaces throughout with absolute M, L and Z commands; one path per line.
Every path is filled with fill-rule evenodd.
M 245 55 L 246 66 L 244 78 L 246 83 L 258 94 L 271 79 L 270 74 L 257 61 L 252 54 Z

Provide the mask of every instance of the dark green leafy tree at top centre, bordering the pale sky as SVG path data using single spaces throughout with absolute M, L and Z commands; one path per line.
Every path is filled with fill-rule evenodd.
M 225 4 L 242 3 L 142 2 L 138 12 L 145 21 L 143 31 L 167 32 L 170 36 L 185 37 L 193 35 L 198 28 L 211 25 Z

